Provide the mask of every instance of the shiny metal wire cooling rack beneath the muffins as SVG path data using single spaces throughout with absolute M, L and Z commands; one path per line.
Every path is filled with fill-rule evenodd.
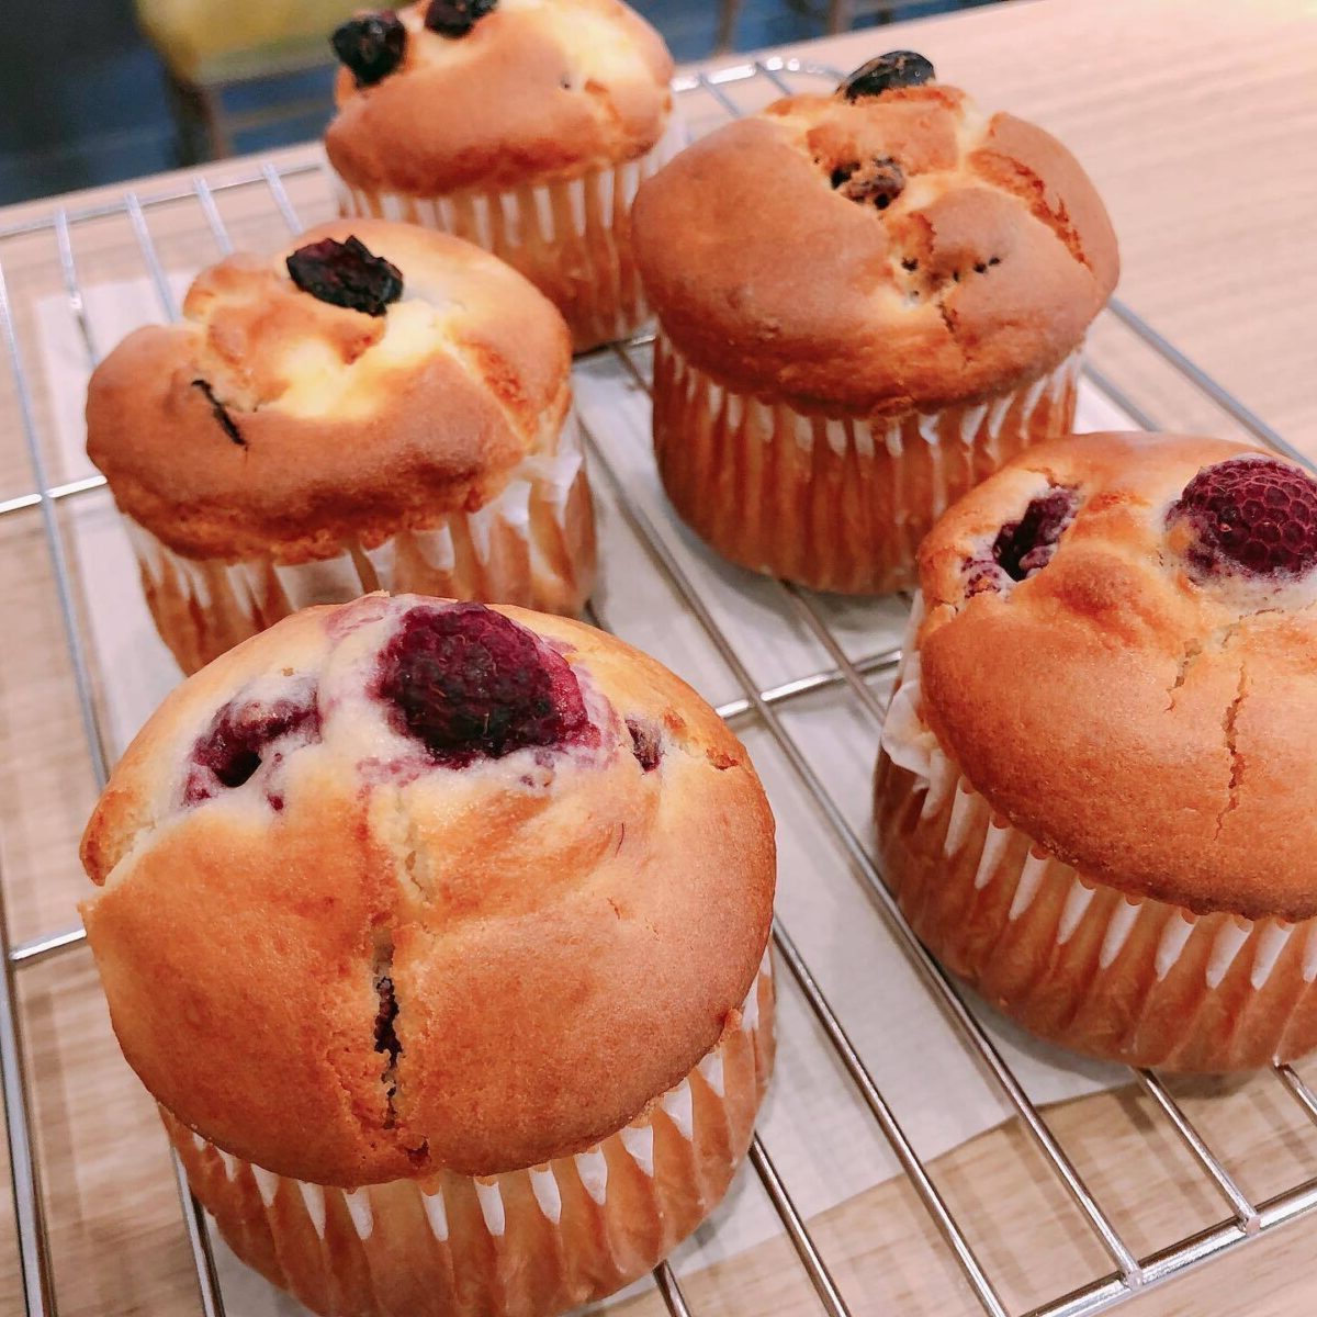
M 769 59 L 736 65 L 715 74 L 694 74 L 680 79 L 674 84 L 674 88 L 682 94 L 706 94 L 728 115 L 738 116 L 740 109 L 728 95 L 727 88 L 730 86 L 766 82 L 772 84 L 773 90 L 790 94 L 794 90 L 789 82 L 792 76 L 822 78 L 835 82 L 838 75 L 834 70 L 803 61 Z M 32 233 L 49 232 L 54 234 L 70 308 L 79 323 L 88 360 L 95 362 L 97 360 L 97 345 L 86 315 L 83 290 L 78 279 L 71 233 L 74 225 L 104 216 L 126 217 L 141 250 L 146 271 L 157 291 L 161 307 L 167 317 L 175 319 L 178 316 L 176 302 L 166 278 L 163 263 L 151 240 L 148 211 L 182 200 L 195 202 L 202 212 L 205 227 L 215 240 L 216 248 L 221 254 L 228 254 L 232 250 L 232 242 L 215 203 L 213 194 L 216 191 L 253 187 L 265 188 L 269 202 L 278 211 L 288 229 L 298 232 L 302 224 L 288 198 L 284 182 L 315 173 L 320 167 L 319 163 L 284 167 L 265 163 L 254 173 L 232 178 L 221 184 L 216 184 L 213 188 L 205 179 L 196 176 L 187 186 L 175 186 L 170 191 L 153 194 L 145 200 L 136 192 L 129 192 L 113 202 L 87 207 L 76 212 L 61 208 L 38 219 L 0 229 L 0 241 Z M 1169 363 L 1202 395 L 1230 415 L 1239 425 L 1263 443 L 1312 468 L 1312 464 L 1287 444 L 1280 435 L 1184 357 L 1183 353 L 1150 328 L 1126 306 L 1113 302 L 1109 309 L 1117 320 L 1133 331 L 1152 352 Z M 13 375 L 18 417 L 36 485 L 36 489 L 30 493 L 0 502 L 0 516 L 20 512 L 25 508 L 40 507 L 41 510 L 45 539 L 59 594 L 65 637 L 78 686 L 87 751 L 95 778 L 97 784 L 103 784 L 107 776 L 107 755 L 99 726 L 84 641 L 78 622 L 75 587 L 68 572 L 65 545 L 55 516 L 55 506 L 66 498 L 74 498 L 90 490 L 99 489 L 104 481 L 101 477 L 88 477 L 51 486 L 46 477 L 42 437 L 37 425 L 32 386 L 24 366 L 24 349 L 18 340 L 16 316 L 3 263 L 0 263 L 0 338 L 4 341 L 4 349 Z M 619 344 L 611 349 L 605 349 L 606 352 L 611 350 L 637 386 L 644 389 L 648 387 L 645 374 L 637 366 L 636 356 L 647 350 L 649 342 L 649 338 L 636 338 L 628 344 Z M 1155 417 L 1138 407 L 1105 375 L 1097 370 L 1088 369 L 1088 377 L 1100 391 L 1125 410 L 1141 425 L 1148 429 L 1158 428 Z M 644 545 L 655 569 L 697 619 L 709 641 L 720 655 L 744 693 L 740 698 L 720 706 L 718 712 L 730 722 L 753 718 L 770 734 L 798 784 L 817 805 L 828 828 L 853 864 L 864 892 L 872 898 L 885 918 L 892 935 L 919 971 L 928 990 L 943 1008 L 965 1047 L 981 1063 L 988 1077 L 1006 1098 L 1038 1152 L 1073 1200 L 1114 1264 L 1114 1271 L 1108 1276 L 1034 1308 L 1025 1317 L 1090 1317 L 1090 1314 L 1105 1312 L 1143 1287 L 1167 1280 L 1191 1266 L 1238 1247 L 1247 1239 L 1274 1230 L 1284 1222 L 1317 1208 L 1317 1180 L 1308 1180 L 1295 1185 L 1266 1201 L 1251 1202 L 1212 1151 L 1204 1137 L 1176 1104 L 1162 1080 L 1150 1071 L 1135 1071 L 1133 1072 L 1133 1079 L 1184 1141 L 1202 1173 L 1226 1204 L 1229 1216 L 1218 1225 L 1187 1237 L 1167 1249 L 1162 1249 L 1144 1258 L 1134 1256 L 1052 1135 L 1042 1114 L 1026 1096 L 1018 1079 L 1010 1071 L 992 1039 L 967 1008 L 963 990 L 951 981 L 906 925 L 896 901 L 884 886 L 868 848 L 846 822 L 838 803 L 831 798 L 823 782 L 814 773 L 801 748 L 778 716 L 778 710 L 784 705 L 802 695 L 824 687 L 844 686 L 861 712 L 872 719 L 874 726 L 881 724 L 884 709 L 868 685 L 867 678 L 890 670 L 900 660 L 900 652 L 892 649 L 871 655 L 863 660 L 849 658 L 828 630 L 827 622 L 814 599 L 807 593 L 780 582 L 778 590 L 782 608 L 806 626 L 832 660 L 834 666 L 809 673 L 772 689 L 759 689 L 739 653 L 718 627 L 710 610 L 691 586 L 690 579 L 668 549 L 648 514 L 619 478 L 607 452 L 595 443 L 589 432 L 586 433 L 586 440 L 595 478 L 602 479 L 608 489 L 623 518 Z M 49 1238 L 43 1217 L 40 1168 L 32 1138 L 29 1087 L 25 1071 L 21 1018 L 16 1001 L 16 975 L 21 967 L 58 955 L 79 944 L 82 940 L 82 928 L 70 928 L 51 936 L 14 946 L 9 938 L 8 925 L 4 918 L 3 890 L 0 890 L 0 952 L 3 952 L 4 957 L 3 973 L 0 973 L 0 1088 L 3 1088 L 9 1141 L 22 1289 L 29 1317 L 55 1317 L 57 1309 Z M 982 1310 L 992 1314 L 992 1317 L 1008 1317 L 1008 1310 L 992 1279 L 975 1255 L 964 1227 L 950 1210 L 928 1169 L 915 1154 L 898 1119 L 884 1100 L 873 1076 L 847 1036 L 846 1029 L 819 989 L 809 965 L 805 963 L 781 921 L 774 921 L 773 940 L 781 961 L 790 972 L 859 1096 L 868 1106 L 874 1122 L 896 1154 L 923 1208 L 944 1238 L 947 1247 L 955 1256 L 967 1284 L 977 1297 Z M 1289 1097 L 1299 1104 L 1312 1121 L 1317 1122 L 1317 1094 L 1288 1065 L 1275 1067 L 1275 1073 Z M 751 1146 L 749 1162 L 772 1201 L 788 1238 L 795 1247 L 801 1264 L 813 1283 L 823 1309 L 828 1313 L 828 1317 L 848 1317 L 846 1300 L 828 1271 L 826 1260 L 810 1237 L 809 1229 L 793 1202 L 786 1185 L 777 1173 L 768 1148 L 757 1137 Z M 174 1166 L 187 1234 L 196 1266 L 202 1309 L 205 1317 L 223 1317 L 224 1299 L 215 1272 L 215 1260 L 211 1254 L 204 1213 L 196 1200 L 188 1193 L 187 1181 L 176 1156 Z M 690 1317 L 691 1309 L 687 1305 L 676 1275 L 666 1263 L 656 1270 L 655 1280 L 669 1313 L 673 1317 Z

